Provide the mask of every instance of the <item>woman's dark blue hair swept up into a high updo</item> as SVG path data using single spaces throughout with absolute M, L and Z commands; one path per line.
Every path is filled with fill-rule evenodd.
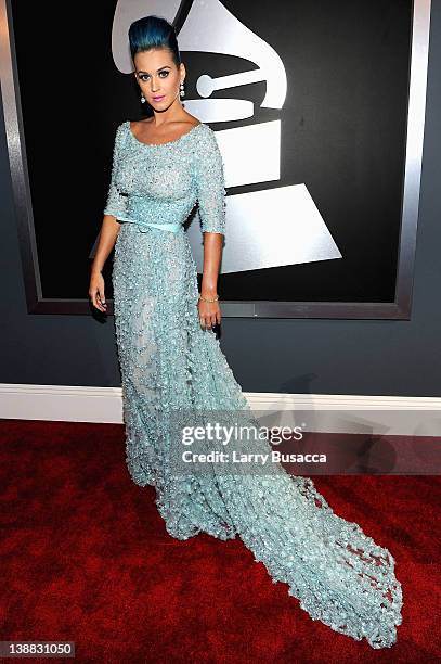
M 161 16 L 152 14 L 134 21 L 129 28 L 129 43 L 133 62 L 142 51 L 168 49 L 177 67 L 181 64 L 174 27 Z

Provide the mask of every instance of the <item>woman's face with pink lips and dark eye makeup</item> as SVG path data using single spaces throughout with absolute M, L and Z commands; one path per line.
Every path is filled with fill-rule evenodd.
M 177 67 L 168 49 L 137 53 L 133 62 L 141 91 L 155 111 L 166 111 L 176 99 L 179 100 L 179 86 L 185 78 L 185 67 L 182 63 Z

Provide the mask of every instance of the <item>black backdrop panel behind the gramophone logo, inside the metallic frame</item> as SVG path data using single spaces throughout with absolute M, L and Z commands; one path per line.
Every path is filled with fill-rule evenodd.
M 44 297 L 87 298 L 115 129 L 143 113 L 132 76 L 113 62 L 115 4 L 78 0 L 62 13 L 44 3 L 11 3 Z M 295 0 L 271 5 L 270 12 L 263 0 L 223 4 L 278 53 L 288 92 L 281 111 L 260 108 L 264 82 L 215 95 L 251 100 L 256 114 L 245 124 L 282 120 L 280 186 L 306 183 L 343 257 L 222 274 L 222 297 L 393 302 L 412 2 Z M 190 99 L 197 98 L 195 81 L 204 72 L 252 68 L 235 56 L 182 52 L 182 59 Z M 258 145 L 256 158 L 264 159 Z M 107 297 L 109 265 L 111 258 Z

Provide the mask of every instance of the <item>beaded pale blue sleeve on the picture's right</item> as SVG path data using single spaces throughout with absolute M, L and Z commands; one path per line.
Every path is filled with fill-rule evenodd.
M 223 161 L 215 131 L 209 127 L 199 137 L 194 170 L 202 231 L 225 234 Z

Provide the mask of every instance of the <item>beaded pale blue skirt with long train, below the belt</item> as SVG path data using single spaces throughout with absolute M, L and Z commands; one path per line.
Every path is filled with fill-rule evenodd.
M 173 472 L 171 412 L 194 412 L 194 422 L 210 410 L 250 412 L 215 333 L 200 328 L 186 233 L 124 224 L 113 281 L 127 464 L 133 482 L 156 487 L 167 532 L 178 539 L 238 535 L 313 620 L 374 649 L 392 646 L 402 620 L 395 561 L 336 515 L 311 478 L 281 464 L 268 475 L 225 473 L 216 463 L 200 474 Z M 270 447 L 254 442 L 250 451 Z

